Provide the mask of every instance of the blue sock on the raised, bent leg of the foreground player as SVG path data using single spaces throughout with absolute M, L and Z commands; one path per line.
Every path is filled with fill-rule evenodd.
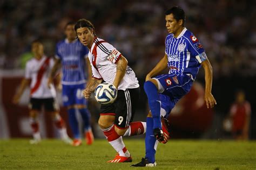
M 149 100 L 149 107 L 153 118 L 153 129 L 161 128 L 161 116 L 160 116 L 160 99 L 157 92 L 157 87 L 151 81 L 144 83 L 144 90 Z

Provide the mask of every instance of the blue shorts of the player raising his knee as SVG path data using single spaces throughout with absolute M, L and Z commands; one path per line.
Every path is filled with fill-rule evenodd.
M 190 91 L 193 80 L 186 74 L 162 74 L 153 79 L 158 82 L 161 108 L 166 112 L 163 115 L 161 111 L 161 115 L 167 117 L 180 98 Z

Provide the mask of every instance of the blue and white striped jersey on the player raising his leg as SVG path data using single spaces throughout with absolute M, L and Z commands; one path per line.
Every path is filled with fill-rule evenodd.
M 201 62 L 207 59 L 205 50 L 193 33 L 186 28 L 177 38 L 169 34 L 165 39 L 169 74 L 191 74 L 196 79 Z

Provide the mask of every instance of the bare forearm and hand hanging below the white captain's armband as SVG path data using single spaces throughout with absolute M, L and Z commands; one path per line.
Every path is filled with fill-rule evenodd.
M 212 95 L 212 66 L 208 59 L 204 60 L 201 65 L 205 70 L 205 102 L 207 108 L 213 108 L 217 102 Z

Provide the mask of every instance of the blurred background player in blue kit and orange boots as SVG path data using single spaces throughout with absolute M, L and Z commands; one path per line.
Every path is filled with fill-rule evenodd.
M 87 68 L 90 78 L 91 65 L 87 58 L 88 49 L 76 39 L 74 25 L 75 23 L 73 22 L 66 24 L 66 38 L 57 44 L 57 60 L 52 68 L 49 84 L 52 83 L 57 70 L 62 66 L 63 104 L 65 107 L 68 107 L 69 124 L 74 137 L 72 145 L 79 146 L 82 144 L 76 109 L 83 119 L 86 144 L 91 145 L 93 143 L 93 134 L 90 125 L 91 114 L 87 108 L 87 100 L 83 97 L 83 89 L 86 84 L 85 68 Z

